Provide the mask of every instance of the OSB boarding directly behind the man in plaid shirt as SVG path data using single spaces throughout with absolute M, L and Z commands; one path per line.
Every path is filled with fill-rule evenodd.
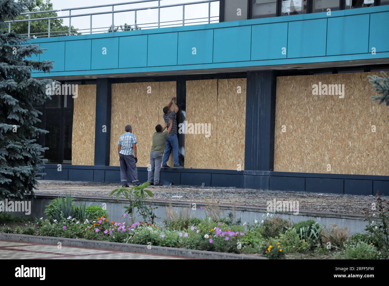
M 164 124 L 162 101 L 166 101 L 166 105 L 168 100 L 165 100 L 165 97 L 168 94 L 170 94 L 170 97 L 167 96 L 168 99 L 176 96 L 175 86 L 175 82 L 112 84 L 110 166 L 120 165 L 117 142 L 120 135 L 125 133 L 124 127 L 130 124 L 138 141 L 137 166 L 147 167 L 147 164 L 150 163 L 152 135 L 155 132 L 155 126 Z

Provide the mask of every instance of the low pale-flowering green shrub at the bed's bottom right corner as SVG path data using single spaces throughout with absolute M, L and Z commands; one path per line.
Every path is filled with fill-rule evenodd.
M 343 259 L 380 259 L 377 247 L 366 242 L 345 243 Z

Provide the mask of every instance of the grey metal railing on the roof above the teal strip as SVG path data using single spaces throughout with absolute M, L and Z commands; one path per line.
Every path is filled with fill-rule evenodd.
M 105 4 L 105 5 L 96 5 L 96 6 L 87 6 L 87 7 L 75 7 L 75 8 L 67 8 L 67 9 L 59 9 L 59 10 L 48 10 L 48 11 L 37 11 L 37 12 L 25 12 L 21 13 L 21 15 L 28 16 L 28 19 L 19 19 L 19 20 L 12 20 L 12 21 L 5 21 L 5 23 L 8 23 L 8 32 L 11 32 L 11 24 L 12 23 L 18 23 L 18 22 L 28 22 L 28 33 L 23 34 L 27 35 L 29 38 L 31 35 L 33 37 L 50 37 L 50 36 L 65 36 L 65 35 L 75 35 L 75 34 L 85 34 L 85 33 L 101 33 L 101 32 L 117 32 L 119 28 L 122 31 L 126 30 L 140 30 L 140 29 L 148 29 L 148 28 L 161 28 L 161 27 L 167 27 L 167 26 L 185 26 L 185 25 L 194 25 L 194 24 L 205 24 L 205 23 L 215 23 L 219 22 L 219 9 L 217 9 L 217 16 L 211 16 L 211 3 L 212 2 L 220 2 L 220 0 L 202 0 L 202 1 L 195 1 L 195 2 L 186 2 L 186 3 L 179 3 L 179 4 L 170 4 L 170 5 L 161 5 L 161 2 L 163 0 L 138 0 L 138 1 L 131 1 L 131 2 L 124 2 L 124 3 L 117 3 L 117 4 Z M 150 7 L 139 7 L 139 8 L 133 8 L 133 9 L 122 9 L 122 10 L 115 10 L 116 6 L 121 5 L 131 5 L 131 4 L 139 4 L 139 3 L 148 3 L 148 2 L 158 2 L 158 5 L 150 6 Z M 205 4 L 208 3 L 208 17 L 202 17 L 202 18 L 185 18 L 185 7 L 189 5 L 196 5 L 196 4 Z M 95 8 L 103 8 L 103 7 L 112 7 L 112 11 L 105 11 L 105 12 L 94 12 L 94 13 L 86 13 L 86 14 L 75 14 L 72 15 L 72 11 L 75 10 L 82 10 L 82 9 L 95 9 Z M 182 19 L 179 20 L 172 20 L 172 21 L 160 21 L 161 19 L 161 9 L 163 8 L 169 8 L 169 7 L 182 7 Z M 149 23 L 137 23 L 137 12 L 144 11 L 144 10 L 152 10 L 152 9 L 158 9 L 158 20 L 152 21 Z M 69 11 L 69 15 L 66 16 L 53 16 L 53 17 L 44 17 L 44 18 L 31 18 L 31 15 L 35 14 L 42 14 L 42 13 L 52 13 L 52 12 L 63 12 L 63 11 Z M 133 27 L 128 26 L 115 26 L 114 24 L 114 15 L 115 13 L 122 13 L 122 12 L 134 12 L 134 24 Z M 92 17 L 94 15 L 103 15 L 103 14 L 112 14 L 112 24 L 108 27 L 96 27 L 93 28 L 92 26 Z M 72 18 L 75 17 L 84 17 L 89 16 L 90 17 L 90 26 L 89 28 L 82 28 L 82 29 L 74 29 L 72 30 Z M 51 20 L 52 19 L 66 19 L 69 18 L 69 27 L 68 30 L 64 31 L 55 31 L 51 32 Z M 33 32 L 31 33 L 30 27 L 31 22 L 33 21 L 47 21 L 47 32 Z M 102 30 L 105 29 L 105 30 Z M 107 30 L 109 29 L 109 30 Z M 43 34 L 43 35 L 42 35 Z

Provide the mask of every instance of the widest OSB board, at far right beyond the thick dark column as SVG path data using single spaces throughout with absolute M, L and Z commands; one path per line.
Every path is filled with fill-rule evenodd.
M 389 109 L 371 100 L 372 74 L 278 77 L 274 170 L 389 175 Z M 312 95 L 319 82 L 344 84 L 344 98 Z

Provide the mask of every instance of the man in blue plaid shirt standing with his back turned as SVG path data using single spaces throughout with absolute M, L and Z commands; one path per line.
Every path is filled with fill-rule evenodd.
M 126 133 L 120 136 L 117 143 L 117 152 L 119 152 L 120 160 L 120 181 L 123 187 L 129 187 L 127 183 L 127 171 L 130 172 L 131 183 L 134 186 L 139 186 L 138 171 L 137 171 L 137 138 L 133 135 L 131 125 L 126 125 L 124 128 Z

